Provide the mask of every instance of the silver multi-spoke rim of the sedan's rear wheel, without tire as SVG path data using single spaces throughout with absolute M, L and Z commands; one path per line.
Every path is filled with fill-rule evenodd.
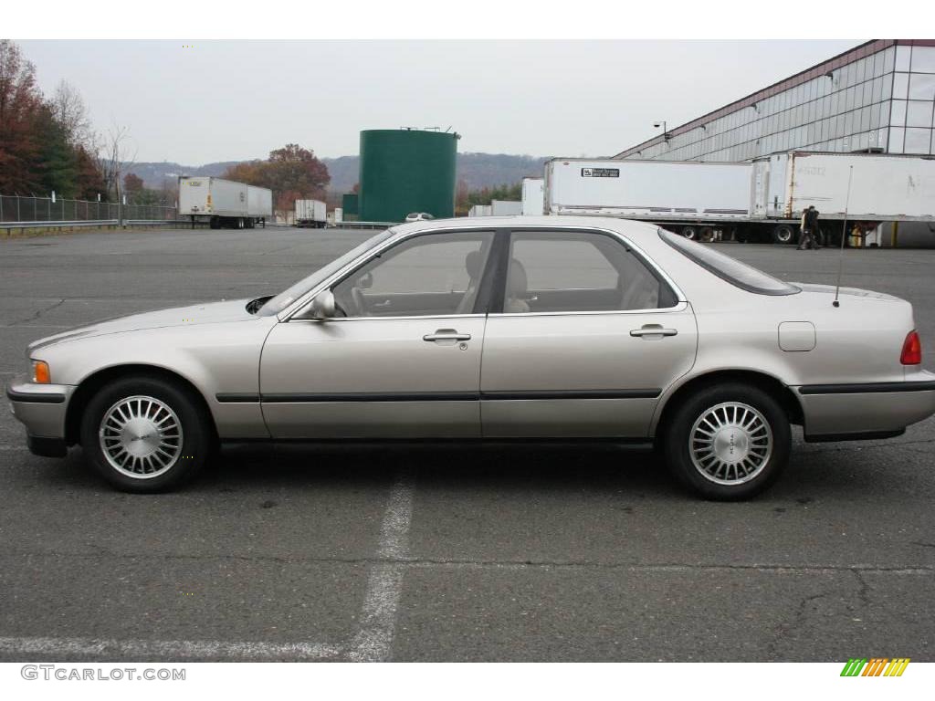
M 707 409 L 688 437 L 692 463 L 705 479 L 742 484 L 754 479 L 772 454 L 772 430 L 755 408 L 726 402 Z

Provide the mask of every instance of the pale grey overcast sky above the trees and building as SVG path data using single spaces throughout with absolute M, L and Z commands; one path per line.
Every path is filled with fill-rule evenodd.
M 612 155 L 854 41 L 23 41 L 137 162 L 355 155 L 362 129 L 452 126 L 459 150 Z

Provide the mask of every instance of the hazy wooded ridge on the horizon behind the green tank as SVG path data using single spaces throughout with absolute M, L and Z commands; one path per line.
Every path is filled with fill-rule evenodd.
M 532 156 L 514 156 L 508 153 L 458 153 L 457 179 L 465 182 L 470 190 L 484 187 L 511 185 L 525 177 L 541 177 L 542 165 L 547 159 Z M 323 158 L 331 174 L 332 193 L 348 193 L 356 184 L 360 173 L 357 156 Z M 159 189 L 164 180 L 176 179 L 180 175 L 220 176 L 230 165 L 238 161 L 223 161 L 205 165 L 180 165 L 177 163 L 137 163 L 129 172 L 143 179 L 147 187 Z

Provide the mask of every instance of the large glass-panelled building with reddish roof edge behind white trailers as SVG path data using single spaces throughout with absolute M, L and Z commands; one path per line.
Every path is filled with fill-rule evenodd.
M 935 153 L 935 39 L 874 39 L 614 158 L 749 161 L 784 150 Z

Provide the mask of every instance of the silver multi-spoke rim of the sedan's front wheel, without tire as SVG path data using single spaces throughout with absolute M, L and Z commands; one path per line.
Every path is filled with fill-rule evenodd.
M 162 475 L 181 454 L 179 417 L 151 396 L 126 397 L 109 408 L 98 436 L 110 466 L 135 479 Z

